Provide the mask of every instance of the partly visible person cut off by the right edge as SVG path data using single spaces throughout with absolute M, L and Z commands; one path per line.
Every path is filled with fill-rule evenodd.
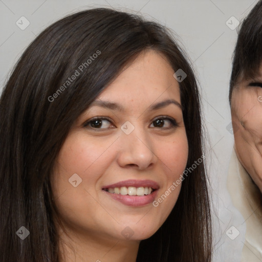
M 262 260 L 262 1 L 242 23 L 229 101 L 234 130 L 228 188 L 246 222 L 242 261 Z

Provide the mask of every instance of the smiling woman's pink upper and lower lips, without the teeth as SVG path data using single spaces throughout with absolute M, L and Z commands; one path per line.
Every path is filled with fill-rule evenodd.
M 156 199 L 157 190 L 159 189 L 158 183 L 152 180 L 126 180 L 121 181 L 112 185 L 106 185 L 102 189 L 107 188 L 115 188 L 115 187 L 151 187 L 154 189 L 153 192 L 147 195 L 137 196 L 137 195 L 122 195 L 122 194 L 115 194 L 115 193 L 109 193 L 105 190 L 103 190 L 108 196 L 113 198 L 114 200 L 117 200 L 121 202 L 124 205 L 127 206 L 133 206 L 133 207 L 140 207 L 145 206 L 147 204 L 152 203 Z

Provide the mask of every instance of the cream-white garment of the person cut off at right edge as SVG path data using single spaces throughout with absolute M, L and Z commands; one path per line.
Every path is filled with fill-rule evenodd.
M 234 206 L 246 221 L 246 241 L 241 262 L 262 261 L 262 194 L 232 152 L 227 188 Z

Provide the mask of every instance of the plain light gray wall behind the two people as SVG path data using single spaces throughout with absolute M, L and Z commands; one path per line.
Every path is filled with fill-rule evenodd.
M 226 21 L 241 21 L 257 1 L 253 0 L 0 0 L 0 90 L 15 62 L 29 43 L 48 25 L 72 12 L 91 7 L 114 7 L 139 11 L 171 28 L 189 54 L 200 82 L 204 117 L 209 133 L 207 158 L 213 188 L 215 243 L 213 261 L 238 262 L 244 244 L 245 223 L 233 207 L 226 189 L 233 135 L 230 124 L 228 86 L 236 30 Z M 16 21 L 25 16 L 30 25 L 21 30 Z M 226 231 L 234 226 L 240 234 L 232 241 Z

